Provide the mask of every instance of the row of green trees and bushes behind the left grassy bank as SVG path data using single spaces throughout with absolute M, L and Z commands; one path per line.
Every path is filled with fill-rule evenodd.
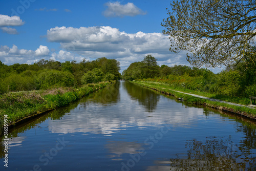
M 105 57 L 81 62 L 41 59 L 32 65 L 15 63 L 7 66 L 0 61 L 0 94 L 12 91 L 80 87 L 87 83 L 121 78 L 120 62 Z

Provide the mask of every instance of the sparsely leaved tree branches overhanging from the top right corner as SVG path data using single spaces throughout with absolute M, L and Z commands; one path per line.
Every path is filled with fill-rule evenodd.
M 228 66 L 245 61 L 255 46 L 255 0 L 174 0 L 163 19 L 170 51 L 188 51 L 191 65 Z M 249 46 L 250 45 L 250 46 Z

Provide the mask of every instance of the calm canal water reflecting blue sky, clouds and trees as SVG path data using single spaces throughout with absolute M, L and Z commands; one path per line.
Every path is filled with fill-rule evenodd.
M 255 130 L 118 81 L 12 130 L 0 170 L 255 170 Z

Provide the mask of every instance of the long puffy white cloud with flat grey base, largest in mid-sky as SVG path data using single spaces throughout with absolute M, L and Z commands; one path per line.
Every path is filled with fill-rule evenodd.
M 64 49 L 81 53 L 169 53 L 168 36 L 162 33 L 129 34 L 109 26 L 55 27 L 47 31 L 47 38 Z

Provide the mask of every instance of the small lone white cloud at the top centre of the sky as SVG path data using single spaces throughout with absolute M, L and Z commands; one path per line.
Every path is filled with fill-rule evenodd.
M 133 3 L 121 5 L 119 2 L 108 2 L 105 4 L 107 9 L 103 11 L 105 17 L 123 17 L 145 15 L 146 12 L 135 6 Z

